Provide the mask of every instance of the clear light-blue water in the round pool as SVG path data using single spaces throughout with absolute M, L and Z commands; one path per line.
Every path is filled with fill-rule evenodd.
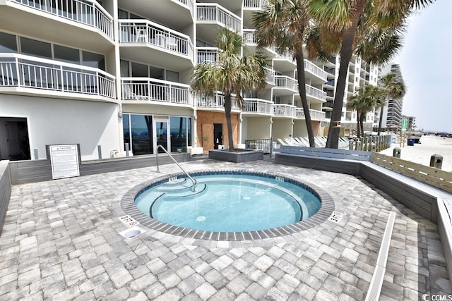
M 321 202 L 283 178 L 245 174 L 169 180 L 141 192 L 135 204 L 148 216 L 174 226 L 214 232 L 259 231 L 309 218 Z

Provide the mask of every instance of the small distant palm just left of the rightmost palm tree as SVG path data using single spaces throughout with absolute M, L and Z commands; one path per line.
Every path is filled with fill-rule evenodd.
M 383 89 L 374 85 L 359 87 L 357 92 L 347 99 L 347 109 L 357 111 L 357 135 L 364 135 L 364 118 L 375 106 L 384 103 L 385 94 Z

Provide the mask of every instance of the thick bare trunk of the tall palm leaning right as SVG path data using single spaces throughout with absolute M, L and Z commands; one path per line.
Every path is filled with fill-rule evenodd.
M 352 59 L 353 42 L 361 14 L 364 11 L 364 4 L 366 0 L 358 0 L 355 5 L 355 13 L 350 18 L 351 25 L 347 27 L 342 38 L 342 45 L 340 47 L 340 65 L 338 75 L 338 85 L 333 102 L 333 113 L 331 115 L 330 128 L 328 129 L 328 138 L 326 139 L 326 147 L 330 149 L 337 149 L 339 147 L 340 127 L 338 122 L 342 118 L 342 107 L 344 104 L 345 84 L 347 82 L 348 64 Z

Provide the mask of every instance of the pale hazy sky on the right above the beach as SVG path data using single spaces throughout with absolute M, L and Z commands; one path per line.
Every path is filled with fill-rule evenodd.
M 436 0 L 409 18 L 399 63 L 407 92 L 402 113 L 417 129 L 452 133 L 452 0 Z

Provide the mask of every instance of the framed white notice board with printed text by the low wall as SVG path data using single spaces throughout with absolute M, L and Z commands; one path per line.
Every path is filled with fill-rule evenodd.
M 50 145 L 52 178 L 80 176 L 77 145 Z

